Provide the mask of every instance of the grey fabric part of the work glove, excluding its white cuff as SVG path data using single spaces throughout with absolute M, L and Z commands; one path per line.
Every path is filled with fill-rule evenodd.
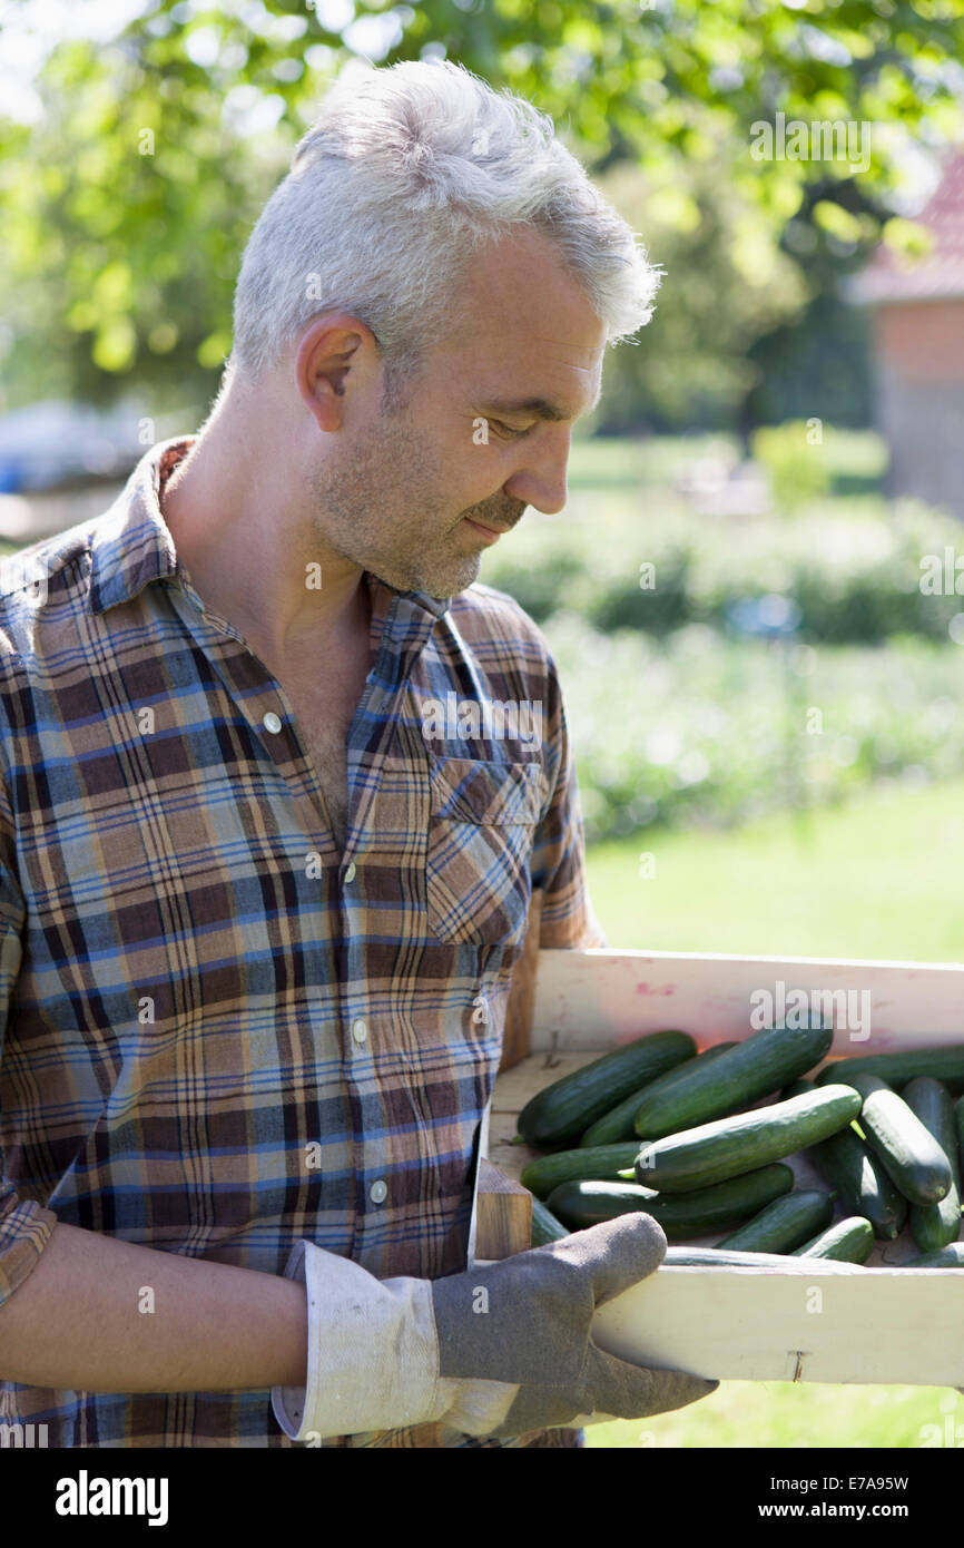
M 630 1365 L 590 1336 L 596 1308 L 658 1269 L 664 1254 L 665 1235 L 651 1215 L 622 1215 L 435 1280 L 441 1376 L 475 1387 L 467 1404 L 456 1399 L 446 1423 L 504 1440 L 593 1415 L 641 1420 L 715 1392 L 718 1381 Z M 494 1384 L 489 1418 L 501 1410 L 494 1429 L 472 1427 L 472 1404 L 484 1423 L 478 1382 Z

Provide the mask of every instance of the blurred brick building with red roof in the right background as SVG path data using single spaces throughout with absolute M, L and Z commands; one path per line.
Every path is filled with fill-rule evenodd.
M 880 246 L 848 293 L 871 308 L 888 492 L 964 520 L 964 150 L 947 158 L 914 220 L 933 234 L 930 254 L 908 263 Z

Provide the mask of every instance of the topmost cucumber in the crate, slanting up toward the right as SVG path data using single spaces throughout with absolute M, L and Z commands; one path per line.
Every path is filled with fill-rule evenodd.
M 761 1096 L 812 1070 L 832 1042 L 829 1028 L 777 1028 L 755 1033 L 712 1063 L 702 1063 L 667 1091 L 644 1093 L 634 1128 L 644 1139 L 662 1139 L 681 1128 L 746 1108 Z

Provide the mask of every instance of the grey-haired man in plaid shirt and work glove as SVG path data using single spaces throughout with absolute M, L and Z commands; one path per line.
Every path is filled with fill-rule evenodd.
M 515 113 L 339 82 L 210 420 L 3 588 L 0 1398 L 51 1444 L 543 1443 L 713 1389 L 591 1345 L 648 1217 L 466 1272 L 532 892 L 602 943 L 552 659 L 472 582 L 655 285 Z

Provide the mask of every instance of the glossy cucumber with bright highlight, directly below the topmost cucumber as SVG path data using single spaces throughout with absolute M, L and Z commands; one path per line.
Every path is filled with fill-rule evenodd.
M 664 1194 L 687 1194 L 707 1183 L 723 1183 L 826 1139 L 846 1128 L 859 1111 L 857 1091 L 828 1085 L 791 1096 L 788 1102 L 718 1118 L 713 1124 L 644 1142 L 636 1158 L 636 1181 Z

